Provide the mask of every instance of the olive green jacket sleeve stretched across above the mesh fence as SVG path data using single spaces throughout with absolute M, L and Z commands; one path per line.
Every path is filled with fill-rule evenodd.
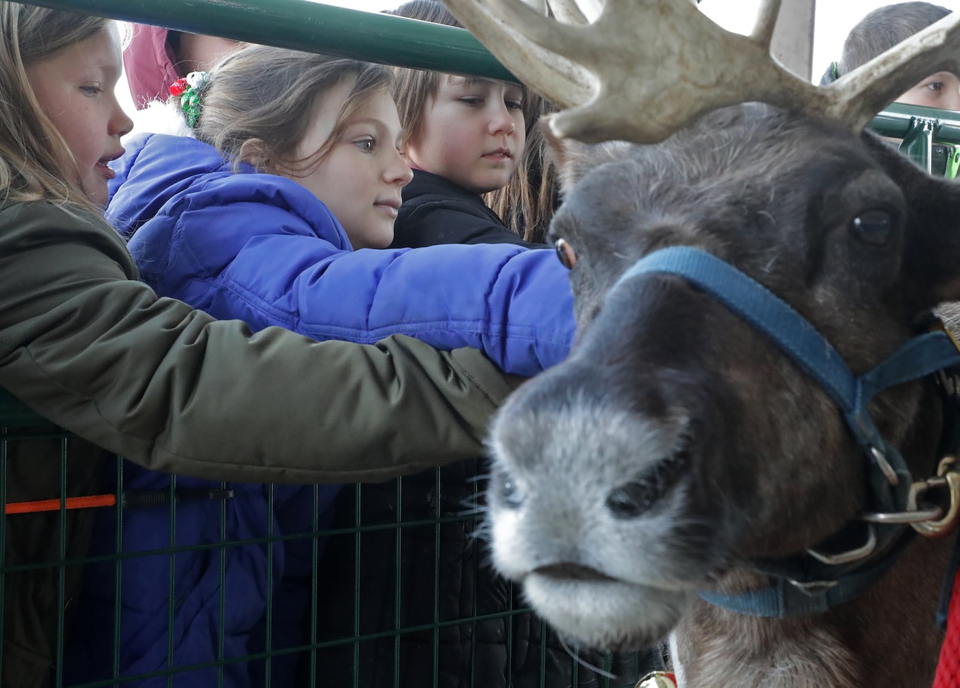
M 0 211 L 0 386 L 151 469 L 387 479 L 481 453 L 511 388 L 475 351 L 252 335 L 157 299 L 132 275 L 99 218 L 42 203 Z

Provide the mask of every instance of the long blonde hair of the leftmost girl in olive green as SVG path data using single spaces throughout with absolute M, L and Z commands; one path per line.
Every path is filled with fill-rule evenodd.
M 110 20 L 0 1 L 0 200 L 41 199 L 96 212 L 73 153 L 43 112 L 27 78 L 36 61 L 108 30 Z

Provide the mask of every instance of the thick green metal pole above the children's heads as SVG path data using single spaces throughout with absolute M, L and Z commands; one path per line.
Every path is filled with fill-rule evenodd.
M 465 29 L 305 0 L 33 0 L 32 4 L 354 60 L 517 81 Z

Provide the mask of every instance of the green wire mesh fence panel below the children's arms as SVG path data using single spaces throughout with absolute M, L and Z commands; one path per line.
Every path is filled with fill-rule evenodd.
M 95 489 L 75 494 L 71 462 L 87 457 L 71 454 L 68 433 L 0 432 L 0 537 L 49 540 L 45 560 L 5 547 L 0 579 L 56 579 L 56 688 L 615 688 L 660 664 L 657 651 L 567 648 L 495 576 L 482 459 L 333 494 L 162 476 L 109 457 Z M 60 446 L 62 499 L 9 489 L 37 442 Z M 5 613 L 0 638 L 11 623 Z

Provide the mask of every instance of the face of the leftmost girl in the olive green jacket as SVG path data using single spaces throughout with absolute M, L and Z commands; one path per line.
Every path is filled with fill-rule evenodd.
M 120 136 L 133 123 L 113 87 L 120 78 L 120 39 L 112 27 L 27 67 L 36 99 L 77 160 L 78 182 L 93 203 L 107 205 L 110 160 L 123 155 Z

